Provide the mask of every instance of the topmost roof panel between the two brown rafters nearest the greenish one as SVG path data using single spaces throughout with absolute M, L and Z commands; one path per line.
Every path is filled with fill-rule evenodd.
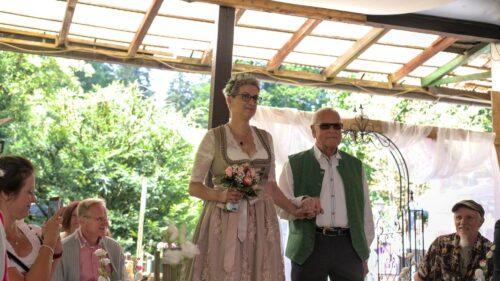
M 378 42 L 426 48 L 431 46 L 432 42 L 436 41 L 438 37 L 439 36 L 433 34 L 391 29 L 387 34 L 382 36 Z

